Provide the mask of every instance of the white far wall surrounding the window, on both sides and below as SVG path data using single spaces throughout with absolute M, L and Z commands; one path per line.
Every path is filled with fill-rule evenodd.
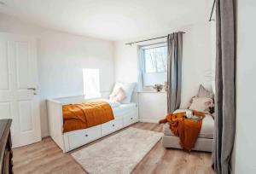
M 189 100 L 195 96 L 200 84 L 212 90 L 212 43 L 211 25 L 209 22 L 184 26 L 177 31 L 183 34 L 183 82 L 181 107 L 187 107 Z M 170 32 L 171 33 L 171 32 Z M 167 33 L 160 33 L 159 36 Z M 143 44 L 160 43 L 166 39 L 158 39 Z M 135 40 L 136 41 L 136 40 Z M 115 78 L 118 81 L 137 81 L 137 44 L 125 45 L 114 43 Z M 209 77 L 208 77 L 209 76 Z M 158 95 L 158 96 L 157 96 Z M 166 94 L 139 93 L 140 118 L 157 122 L 166 116 Z M 146 102 L 152 102 L 150 105 Z M 148 112 L 148 108 L 153 112 Z M 154 118 L 154 119 L 153 119 Z

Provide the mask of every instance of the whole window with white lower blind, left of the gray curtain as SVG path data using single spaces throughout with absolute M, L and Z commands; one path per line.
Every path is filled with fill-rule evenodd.
M 143 88 L 154 84 L 165 84 L 167 80 L 167 46 L 166 43 L 152 44 L 140 48 L 140 62 Z

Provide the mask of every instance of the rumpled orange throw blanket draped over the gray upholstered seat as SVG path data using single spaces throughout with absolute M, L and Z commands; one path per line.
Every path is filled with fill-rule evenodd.
M 193 111 L 193 114 L 205 118 L 204 113 Z M 168 122 L 172 133 L 175 136 L 179 136 L 183 150 L 190 152 L 194 148 L 201 131 L 202 119 L 195 121 L 193 119 L 185 119 L 185 116 L 186 113 L 169 113 L 166 119 L 160 120 L 160 124 Z

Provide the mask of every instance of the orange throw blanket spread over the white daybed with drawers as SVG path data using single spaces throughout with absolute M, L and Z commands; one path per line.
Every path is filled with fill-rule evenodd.
M 112 107 L 102 101 L 64 105 L 62 113 L 63 132 L 101 125 L 113 119 Z

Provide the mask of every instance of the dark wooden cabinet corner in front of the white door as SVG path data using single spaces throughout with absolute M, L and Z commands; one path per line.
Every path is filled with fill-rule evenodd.
M 13 173 L 11 119 L 0 119 L 0 174 Z

